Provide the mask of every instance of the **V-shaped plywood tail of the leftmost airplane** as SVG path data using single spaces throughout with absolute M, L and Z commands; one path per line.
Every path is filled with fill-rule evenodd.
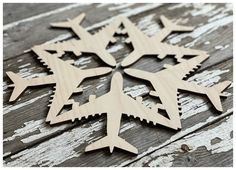
M 27 88 L 28 84 L 26 80 L 24 80 L 23 78 L 21 78 L 20 76 L 11 71 L 6 72 L 6 74 L 14 83 L 9 86 L 9 87 L 14 87 L 14 90 L 9 99 L 9 101 L 12 102 L 15 101 L 18 98 L 18 96 Z

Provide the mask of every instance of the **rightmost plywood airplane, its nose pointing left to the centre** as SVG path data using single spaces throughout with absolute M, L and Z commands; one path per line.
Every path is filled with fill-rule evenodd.
M 223 111 L 220 96 L 224 96 L 221 92 L 231 84 L 230 81 L 221 82 L 213 87 L 203 87 L 183 80 L 207 58 L 207 55 L 201 55 L 174 66 L 164 65 L 166 69 L 156 73 L 129 68 L 125 69 L 124 72 L 130 76 L 151 82 L 155 91 L 151 91 L 150 95 L 159 97 L 170 119 L 176 123 L 178 128 L 181 128 L 177 100 L 178 89 L 205 94 L 218 111 Z

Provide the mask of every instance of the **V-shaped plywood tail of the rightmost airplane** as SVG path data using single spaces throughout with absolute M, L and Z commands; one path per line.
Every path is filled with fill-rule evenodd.
M 225 96 L 222 91 L 225 90 L 227 87 L 229 87 L 231 84 L 231 81 L 224 81 L 221 82 L 213 87 L 210 87 L 209 90 L 207 91 L 207 96 L 210 99 L 210 101 L 212 102 L 212 104 L 214 105 L 214 107 L 222 112 L 223 108 L 222 108 L 222 104 L 220 101 L 220 97 L 221 96 Z

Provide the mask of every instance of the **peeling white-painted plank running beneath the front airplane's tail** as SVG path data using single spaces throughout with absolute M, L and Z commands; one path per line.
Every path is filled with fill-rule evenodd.
M 219 81 L 217 76 L 220 70 L 227 70 L 227 73 L 220 81 L 232 80 L 232 60 L 216 65 L 198 75 L 193 79 L 198 79 L 200 84 L 210 85 Z M 218 73 L 217 73 L 218 72 Z M 224 72 L 224 71 L 223 71 Z M 213 83 L 214 84 L 214 83 Z M 228 90 L 232 93 L 232 89 Z M 175 131 L 152 126 L 147 123 L 140 123 L 139 120 L 126 118 L 122 122 L 120 136 L 128 142 L 139 148 L 137 157 L 126 152 L 116 150 L 115 154 L 110 155 L 108 150 L 99 150 L 91 153 L 84 153 L 84 147 L 91 142 L 104 136 L 105 121 L 104 118 L 93 119 L 89 124 L 77 126 L 68 132 L 64 132 L 55 138 L 51 138 L 32 148 L 24 150 L 5 159 L 6 166 L 118 166 L 126 165 L 135 159 L 142 157 L 161 145 L 166 145 L 175 141 L 198 128 L 212 123 L 222 115 L 214 114 L 211 105 L 206 99 L 200 100 L 196 96 L 186 96 L 183 94 L 180 99 L 183 105 L 182 125 L 183 129 L 176 133 Z M 149 103 L 148 101 L 146 101 Z M 223 107 L 226 111 L 223 115 L 232 112 L 232 96 L 223 101 Z M 28 129 L 30 125 L 23 129 Z M 48 127 L 50 128 L 50 127 Z M 34 136 L 36 137 L 36 136 Z M 23 141 L 30 140 L 30 137 Z M 55 145 L 56 143 L 56 145 Z M 58 152 L 63 154 L 58 155 Z M 32 157 L 35 159 L 32 160 Z M 39 159 L 40 158 L 40 159 Z M 134 160 L 132 160 L 132 158 Z M 131 159 L 127 161 L 127 159 Z M 125 161 L 125 162 L 124 162 Z

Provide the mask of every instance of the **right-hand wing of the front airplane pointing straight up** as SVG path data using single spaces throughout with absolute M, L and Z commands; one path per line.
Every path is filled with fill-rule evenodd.
M 158 105 L 155 105 L 150 109 L 142 104 L 140 98 L 134 100 L 127 95 L 123 96 L 122 101 L 124 101 L 122 103 L 122 107 L 124 108 L 123 114 L 128 116 L 132 115 L 134 118 L 138 117 L 141 121 L 146 120 L 147 123 L 153 122 L 154 125 L 160 124 L 166 127 L 177 129 L 173 121 L 157 112 Z

